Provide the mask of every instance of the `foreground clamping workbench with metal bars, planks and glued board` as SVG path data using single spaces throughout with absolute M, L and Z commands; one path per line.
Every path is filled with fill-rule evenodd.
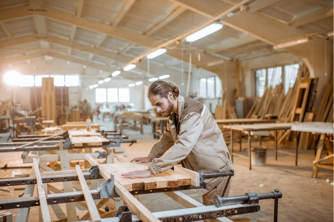
M 88 208 L 89 212 L 80 218 L 80 221 L 86 222 L 191 222 L 207 219 L 212 219 L 212 222 L 231 222 L 226 218 L 227 216 L 258 212 L 260 210 L 259 200 L 275 199 L 274 222 L 277 222 L 278 199 L 282 198 L 282 192 L 277 189 L 269 193 L 249 192 L 234 197 L 217 195 L 214 198 L 215 204 L 211 206 L 204 206 L 180 191 L 205 188 L 205 178 L 226 176 L 230 179 L 234 175 L 232 170 L 230 172 L 204 173 L 174 166 L 174 170 L 170 169 L 166 173 L 156 176 L 128 178 L 122 177 L 120 174 L 135 169 L 147 169 L 150 163 L 129 163 L 122 156 L 117 157 L 122 162 L 117 164 L 100 164 L 88 154 L 85 155 L 85 158 L 92 164 L 90 169 L 81 169 L 79 165 L 76 165 L 75 170 L 54 172 L 40 172 L 40 161 L 33 158 L 33 168 L 30 174 L 0 179 L 0 186 L 27 185 L 23 198 L 0 200 L 0 208 L 2 210 L 18 209 L 17 221 L 27 221 L 28 207 L 38 206 L 40 208 L 40 221 L 49 222 L 51 218 L 48 205 L 60 203 L 66 204 L 68 218 L 64 219 L 76 221 L 75 202 Z M 22 176 L 27 177 L 22 178 Z M 101 178 L 105 181 L 97 189 L 89 190 L 86 180 Z M 66 182 L 77 180 L 80 185 L 75 188 L 82 191 L 65 190 Z M 65 182 L 63 183 L 64 191 L 52 186 L 53 182 Z M 37 185 L 37 196 L 32 195 L 35 184 Z M 52 193 L 45 194 L 46 189 Z M 138 195 L 157 192 L 163 192 L 188 209 L 152 213 L 140 202 Z M 120 201 L 119 198 L 122 198 L 127 205 L 121 205 L 116 209 L 114 200 Z M 100 201 L 95 204 L 94 200 Z M 71 204 L 73 204 L 72 209 L 70 208 Z M 109 206 L 109 212 L 100 210 L 104 204 Z M 88 221 L 89 217 L 91 220 Z

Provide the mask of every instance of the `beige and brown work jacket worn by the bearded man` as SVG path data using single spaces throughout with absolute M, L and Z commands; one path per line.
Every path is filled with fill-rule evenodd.
M 230 154 L 211 112 L 190 97 L 178 96 L 178 113 L 178 118 L 176 113 L 169 116 L 164 133 L 148 155 L 153 160 L 149 167 L 153 174 L 163 173 L 179 162 L 183 167 L 204 173 L 229 171 Z M 206 188 L 198 189 L 197 193 L 200 196 L 207 193 L 221 180 L 221 177 L 206 178 Z

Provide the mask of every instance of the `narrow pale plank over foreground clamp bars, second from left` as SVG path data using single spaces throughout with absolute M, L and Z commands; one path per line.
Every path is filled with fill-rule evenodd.
M 83 195 L 85 196 L 85 200 L 86 200 L 86 203 L 87 203 L 87 206 L 88 206 L 88 211 L 91 215 L 91 219 L 92 219 L 93 222 L 100 222 L 101 217 L 100 217 L 99 211 L 95 206 L 93 197 L 91 195 L 91 192 L 89 191 L 89 188 L 88 188 L 88 185 L 86 183 L 85 177 L 82 174 L 80 165 L 76 165 L 75 169 L 76 169 L 76 173 L 78 174 L 78 178 L 79 178 L 79 181 L 80 181 L 80 184 L 81 184 L 81 187 L 82 187 L 82 192 L 83 192 Z

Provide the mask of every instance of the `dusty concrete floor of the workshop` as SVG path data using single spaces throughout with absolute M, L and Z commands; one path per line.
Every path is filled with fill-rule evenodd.
M 110 123 L 110 122 L 105 122 Z M 112 124 L 104 126 L 105 129 L 112 129 Z M 129 146 L 122 144 L 128 151 L 128 159 L 135 157 L 147 156 L 152 145 L 157 142 L 153 139 L 151 126 L 144 126 L 144 134 L 138 131 L 124 130 L 124 135 L 129 136 L 129 139 L 137 139 L 137 143 Z M 6 142 L 8 134 L 0 134 L 0 142 Z M 258 145 L 254 142 L 253 145 Z M 247 167 L 247 159 L 236 157 L 234 159 L 233 169 L 235 175 L 231 180 L 230 196 L 243 195 L 246 192 L 271 192 L 274 189 L 279 189 L 283 193 L 283 198 L 279 200 L 279 221 L 333 221 L 333 186 L 326 182 L 330 179 L 333 182 L 333 171 L 320 169 L 319 178 L 313 179 L 312 161 L 314 160 L 313 150 L 301 150 L 299 152 L 299 165 L 294 166 L 292 156 L 279 154 L 278 161 L 274 160 L 273 143 L 271 141 L 263 143 L 268 147 L 267 165 L 263 167 L 254 166 L 253 170 L 249 171 Z M 238 147 L 238 144 L 235 144 Z M 246 140 L 242 144 L 242 148 L 247 148 Z M 284 147 L 279 147 L 284 148 Z M 284 149 L 289 151 L 289 149 Z M 292 151 L 292 150 L 291 150 Z M 240 154 L 246 154 L 246 151 Z M 2 153 L 0 158 L 0 167 L 6 163 L 8 166 L 31 166 L 31 164 L 22 164 L 20 158 L 21 152 Z M 116 162 L 117 160 L 115 160 Z M 29 173 L 30 169 L 10 169 L 0 170 L 0 178 L 14 177 L 14 174 Z M 101 180 L 92 180 L 91 189 L 101 184 Z M 263 184 L 264 186 L 260 186 Z M 62 188 L 61 184 L 52 184 Z M 15 190 L 14 190 L 15 188 Z M 21 188 L 21 190 L 18 190 Z M 23 186 L 0 187 L 0 199 L 18 198 L 18 195 L 23 192 Z M 36 190 L 34 194 L 36 195 Z M 195 190 L 184 191 L 185 194 L 202 202 Z M 184 208 L 174 200 L 167 197 L 165 194 L 145 194 L 140 195 L 142 203 L 152 212 L 173 210 Z M 96 201 L 98 202 L 98 201 Z M 117 203 L 118 205 L 120 202 Z M 273 221 L 274 200 L 261 200 L 261 210 L 257 213 L 246 214 L 251 218 L 252 222 Z M 52 207 L 51 207 L 52 206 Z M 85 208 L 77 206 L 77 214 L 79 217 L 87 213 Z M 60 210 L 62 209 L 63 212 Z M 13 221 L 16 218 L 18 210 L 0 210 L 0 213 L 13 213 Z M 49 205 L 49 211 L 52 220 L 66 217 L 65 204 Z M 54 212 L 57 212 L 57 216 Z M 29 221 L 38 221 L 38 207 L 31 207 Z

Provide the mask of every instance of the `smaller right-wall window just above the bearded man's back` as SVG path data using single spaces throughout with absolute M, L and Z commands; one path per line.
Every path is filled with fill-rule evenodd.
M 222 96 L 222 86 L 219 77 L 199 79 L 199 97 L 214 99 Z

